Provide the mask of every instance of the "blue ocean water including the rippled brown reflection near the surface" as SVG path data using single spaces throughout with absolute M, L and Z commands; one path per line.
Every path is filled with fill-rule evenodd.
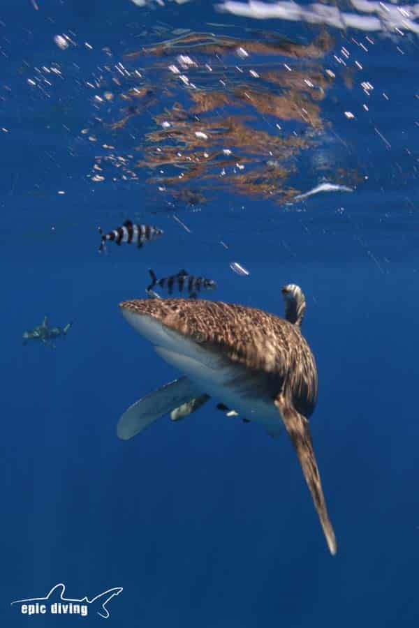
M 137 4 L 0 8 L 2 625 L 78 622 L 10 606 L 65 583 L 122 587 L 86 618 L 118 626 L 416 626 L 417 35 Z M 295 199 L 325 183 L 353 191 Z M 165 233 L 100 255 L 127 218 Z M 178 375 L 119 313 L 149 267 L 279 315 L 304 290 L 335 557 L 285 434 L 208 403 L 118 440 Z M 68 336 L 22 345 L 44 315 Z

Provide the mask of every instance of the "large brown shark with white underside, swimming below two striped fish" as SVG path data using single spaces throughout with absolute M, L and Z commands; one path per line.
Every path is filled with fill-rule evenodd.
M 317 369 L 300 330 L 304 294 L 294 284 L 286 285 L 282 294 L 285 319 L 220 301 L 137 299 L 120 304 L 126 320 L 184 377 L 131 405 L 119 419 L 117 433 L 124 440 L 132 438 L 163 414 L 185 416 L 210 397 L 263 424 L 272 436 L 285 426 L 335 554 L 335 533 L 309 430 Z

